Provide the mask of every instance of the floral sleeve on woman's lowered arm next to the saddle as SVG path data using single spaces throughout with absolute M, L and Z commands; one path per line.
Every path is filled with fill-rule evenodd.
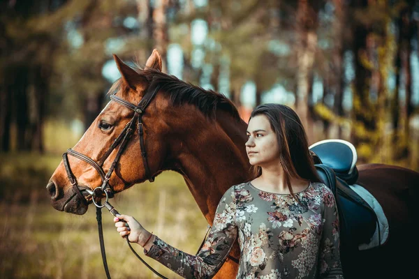
M 323 195 L 323 232 L 320 241 L 319 278 L 343 279 L 339 255 L 339 216 L 335 196 L 329 188 Z

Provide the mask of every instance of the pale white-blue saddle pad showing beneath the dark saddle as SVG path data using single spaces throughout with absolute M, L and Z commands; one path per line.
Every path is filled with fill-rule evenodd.
M 383 208 L 378 203 L 376 198 L 369 193 L 365 188 L 362 186 L 359 186 L 358 184 L 349 185 L 352 190 L 354 190 L 362 199 L 365 200 L 371 206 L 372 209 L 374 209 L 374 212 L 376 213 L 378 224 L 376 225 L 376 230 L 374 232 L 374 235 L 372 236 L 371 241 L 369 243 L 362 243 L 358 246 L 359 250 L 368 250 L 371 248 L 374 248 L 376 246 L 380 246 L 388 239 L 388 220 L 384 215 Z M 378 241 L 378 234 L 381 237 L 381 243 Z

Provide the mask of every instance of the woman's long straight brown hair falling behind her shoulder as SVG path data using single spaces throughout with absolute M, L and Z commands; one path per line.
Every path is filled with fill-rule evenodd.
M 286 183 L 291 195 L 295 198 L 293 188 L 291 188 L 291 177 L 321 182 L 314 167 L 313 158 L 309 153 L 309 144 L 304 127 L 291 107 L 279 104 L 258 105 L 251 112 L 250 119 L 256 115 L 265 115 L 272 130 L 277 135 L 279 158 L 284 168 Z M 251 171 L 255 178 L 262 174 L 260 166 L 252 166 Z

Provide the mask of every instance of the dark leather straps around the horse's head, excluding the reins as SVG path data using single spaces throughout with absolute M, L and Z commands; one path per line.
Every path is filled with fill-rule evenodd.
M 96 190 L 100 189 L 102 193 L 105 193 L 105 192 L 107 193 L 106 195 L 107 197 L 108 196 L 113 197 L 114 191 L 109 185 L 109 179 L 110 179 L 110 176 L 112 175 L 112 172 L 114 172 L 115 167 L 117 166 L 117 163 L 119 162 L 119 159 L 121 158 L 122 153 L 124 152 L 124 148 L 126 144 L 128 143 L 131 136 L 133 135 L 133 129 L 135 127 L 135 124 L 137 124 L 138 137 L 140 137 L 140 150 L 141 150 L 142 163 L 145 168 L 145 177 L 148 177 L 150 182 L 154 181 L 154 176 L 151 175 L 151 172 L 149 169 L 149 165 L 147 162 L 147 153 L 145 151 L 145 146 L 144 146 L 144 131 L 143 131 L 144 129 L 142 127 L 142 114 L 145 112 L 145 109 L 147 108 L 151 100 L 156 95 L 156 92 L 157 90 L 147 90 L 145 93 L 145 96 L 140 100 L 140 103 L 138 103 L 138 105 L 133 105 L 132 103 L 122 98 L 119 98 L 118 96 L 115 95 L 116 93 L 113 93 L 110 96 L 110 100 L 130 110 L 133 110 L 134 115 L 133 115 L 133 118 L 128 123 L 126 123 L 124 130 L 122 130 L 122 133 L 119 134 L 119 136 L 116 138 L 114 142 L 112 142 L 108 151 L 106 151 L 105 154 L 103 154 L 102 158 L 98 161 L 98 163 L 96 163 L 94 160 L 92 160 L 88 156 L 85 156 L 84 154 L 78 151 L 74 151 L 73 149 L 68 149 L 67 152 L 63 154 L 63 162 L 64 162 L 64 167 L 66 168 L 68 180 L 70 181 L 71 186 L 73 186 L 73 190 L 78 195 L 78 197 L 82 200 L 84 205 L 88 205 L 89 202 L 81 193 L 80 188 L 77 183 L 77 179 L 75 178 L 73 172 L 71 172 L 71 167 L 70 167 L 70 164 L 68 163 L 68 155 L 74 156 L 75 158 L 78 158 L 80 160 L 83 160 L 86 163 L 89 163 L 89 165 L 94 167 L 94 169 L 96 169 L 98 174 L 100 174 L 101 179 L 102 179 L 102 186 L 94 189 L 95 193 L 96 193 Z M 117 156 L 115 156 L 115 160 L 112 162 L 112 165 L 110 165 L 108 172 L 105 173 L 105 170 L 103 169 L 103 163 L 110 156 L 110 153 L 112 153 L 112 151 L 117 148 L 118 145 L 119 145 L 119 149 L 118 149 Z M 93 197 L 91 200 L 94 202 Z

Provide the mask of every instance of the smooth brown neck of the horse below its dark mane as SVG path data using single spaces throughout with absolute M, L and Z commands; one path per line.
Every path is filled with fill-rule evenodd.
M 226 112 L 217 112 L 213 121 L 202 115 L 190 121 L 190 125 L 186 119 L 181 124 L 188 127 L 188 132 L 178 138 L 177 146 L 182 147 L 175 158 L 175 170 L 184 176 L 200 210 L 212 224 L 226 190 L 250 179 L 244 146 L 247 124 Z

